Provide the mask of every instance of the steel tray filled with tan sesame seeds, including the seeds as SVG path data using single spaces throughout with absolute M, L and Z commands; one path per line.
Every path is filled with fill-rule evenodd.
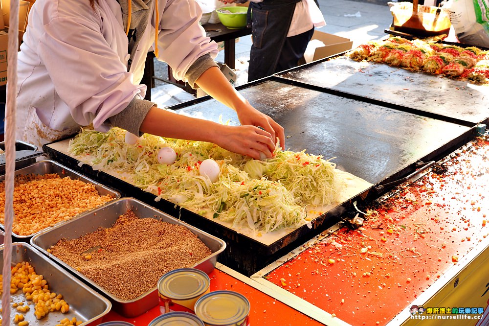
M 114 311 L 138 316 L 158 304 L 165 273 L 209 274 L 226 243 L 133 198 L 120 198 L 32 237 L 31 244 L 105 295 Z

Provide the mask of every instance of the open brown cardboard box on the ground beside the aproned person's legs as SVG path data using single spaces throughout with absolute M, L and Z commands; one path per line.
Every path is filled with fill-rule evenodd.
M 311 61 L 351 50 L 352 46 L 353 41 L 350 41 L 350 39 L 315 30 L 306 53 L 304 53 L 304 59 L 306 63 L 310 63 Z

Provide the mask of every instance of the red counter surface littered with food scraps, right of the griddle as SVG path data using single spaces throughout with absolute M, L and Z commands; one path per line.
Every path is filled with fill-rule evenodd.
M 351 325 L 385 325 L 489 234 L 488 157 L 479 141 L 266 278 Z

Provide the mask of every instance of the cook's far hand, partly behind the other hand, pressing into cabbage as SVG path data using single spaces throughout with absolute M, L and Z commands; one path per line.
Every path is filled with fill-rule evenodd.
M 284 149 L 284 128 L 275 122 L 270 116 L 256 110 L 251 106 L 251 104 L 249 104 L 248 101 L 245 101 L 245 105 L 237 109 L 236 113 L 238 114 L 238 118 L 240 119 L 242 125 L 262 127 L 270 134 L 270 138 L 273 143 L 273 147 L 270 148 L 272 152 L 275 149 L 275 142 L 277 141 L 277 138 L 279 139 L 280 147 Z

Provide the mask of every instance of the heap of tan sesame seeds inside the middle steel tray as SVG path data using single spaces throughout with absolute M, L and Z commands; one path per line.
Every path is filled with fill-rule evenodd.
M 111 228 L 61 239 L 50 252 L 121 300 L 137 298 L 166 272 L 192 267 L 212 254 L 186 227 L 137 218 L 131 210 Z

